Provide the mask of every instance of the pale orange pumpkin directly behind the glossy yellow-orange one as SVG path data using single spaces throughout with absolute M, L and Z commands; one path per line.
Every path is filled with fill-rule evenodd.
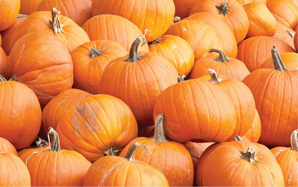
M 179 36 L 186 40 L 194 52 L 195 61 L 202 58 L 209 49 L 223 50 L 223 43 L 218 32 L 202 21 L 178 21 L 172 24 L 165 34 Z

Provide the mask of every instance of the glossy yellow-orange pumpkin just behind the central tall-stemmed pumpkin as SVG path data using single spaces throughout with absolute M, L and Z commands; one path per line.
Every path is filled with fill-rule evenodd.
M 166 57 L 181 75 L 187 76 L 193 68 L 194 53 L 188 42 L 178 36 L 163 35 L 149 43 L 149 51 Z

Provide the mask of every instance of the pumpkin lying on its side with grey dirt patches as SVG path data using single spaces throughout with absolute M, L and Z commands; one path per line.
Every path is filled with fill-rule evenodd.
M 57 126 L 61 147 L 82 154 L 90 162 L 111 147 L 124 148 L 138 135 L 137 121 L 122 100 L 96 94 L 68 109 Z

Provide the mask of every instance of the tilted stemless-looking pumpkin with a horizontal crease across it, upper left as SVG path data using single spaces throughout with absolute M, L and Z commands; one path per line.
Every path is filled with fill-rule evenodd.
M 52 34 L 25 35 L 15 43 L 8 59 L 9 71 L 33 90 L 41 106 L 73 85 L 72 57 L 65 43 Z

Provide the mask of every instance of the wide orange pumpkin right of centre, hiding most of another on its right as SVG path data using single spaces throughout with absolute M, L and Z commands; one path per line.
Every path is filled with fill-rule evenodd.
M 230 97 L 222 88 L 200 78 L 177 83 L 161 92 L 154 106 L 154 120 L 160 113 L 164 113 L 166 137 L 177 142 L 224 141 L 236 127 Z

